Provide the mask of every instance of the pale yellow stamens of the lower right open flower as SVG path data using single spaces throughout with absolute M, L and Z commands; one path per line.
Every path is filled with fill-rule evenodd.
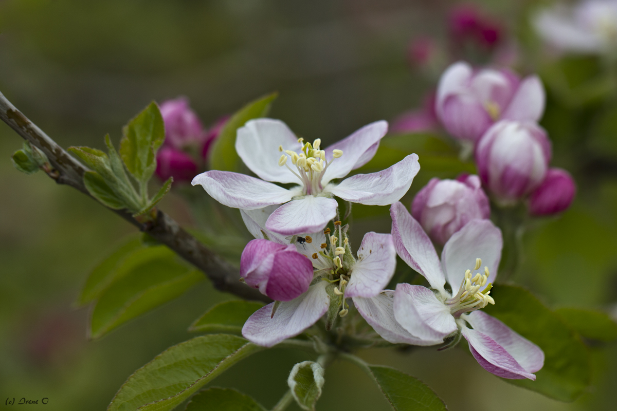
M 482 265 L 482 260 L 476 258 L 476 267 L 473 271 L 476 271 Z M 460 317 L 464 312 L 470 312 L 479 310 L 486 307 L 488 304 L 495 304 L 495 300 L 489 296 L 491 293 L 492 283 L 486 285 L 489 279 L 489 269 L 484 267 L 484 274 L 479 272 L 471 277 L 471 270 L 465 271 L 465 279 L 458 288 L 457 295 L 445 301 L 450 306 L 450 312 L 455 318 Z M 486 287 L 480 291 L 481 287 Z

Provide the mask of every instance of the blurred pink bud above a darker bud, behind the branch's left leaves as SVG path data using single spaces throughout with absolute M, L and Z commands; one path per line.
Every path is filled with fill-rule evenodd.
M 164 101 L 160 114 L 165 122 L 165 145 L 184 149 L 201 147 L 204 141 L 204 128 L 186 98 Z

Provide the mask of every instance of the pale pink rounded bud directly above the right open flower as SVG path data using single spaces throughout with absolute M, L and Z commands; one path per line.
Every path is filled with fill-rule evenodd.
M 434 242 L 444 245 L 471 220 L 488 219 L 491 206 L 479 177 L 463 174 L 456 180 L 431 179 L 413 199 L 412 216 Z

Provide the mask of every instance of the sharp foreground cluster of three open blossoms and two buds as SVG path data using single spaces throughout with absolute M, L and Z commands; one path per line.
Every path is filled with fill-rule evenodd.
M 417 155 L 336 182 L 370 161 L 386 132 L 387 123 L 378 121 L 321 149 L 320 139 L 305 142 L 281 121 L 252 120 L 238 129 L 236 151 L 259 178 L 217 170 L 194 177 L 193 185 L 241 210 L 255 237 L 242 252 L 242 281 L 275 300 L 251 315 L 242 335 L 273 346 L 322 317 L 322 327 L 330 330 L 355 308 L 391 343 L 451 346 L 464 337 L 489 372 L 535 379 L 544 363 L 542 350 L 478 311 L 494 304 L 489 293 L 502 237 L 487 220 L 488 200 L 477 176 L 432 181 L 416 197 L 414 214 L 433 227 L 436 242 L 445 242 L 441 262 L 420 223 L 398 202 L 420 170 Z M 392 233 L 366 233 L 354 253 L 334 197 L 391 205 Z M 444 210 L 456 214 L 452 221 Z M 385 289 L 397 254 L 426 277 L 430 289 L 409 284 Z M 481 259 L 486 266 L 476 272 Z

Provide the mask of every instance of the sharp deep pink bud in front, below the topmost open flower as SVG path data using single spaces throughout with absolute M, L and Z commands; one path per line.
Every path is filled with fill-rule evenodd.
M 313 264 L 297 252 L 295 245 L 258 238 L 242 251 L 240 275 L 263 295 L 276 301 L 290 301 L 309 290 Z

